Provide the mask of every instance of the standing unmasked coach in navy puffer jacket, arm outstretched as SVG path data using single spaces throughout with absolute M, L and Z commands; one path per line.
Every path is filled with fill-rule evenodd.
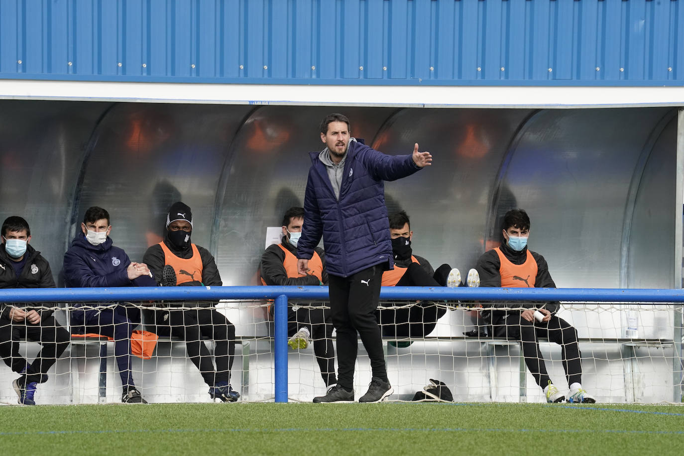
M 311 152 L 304 197 L 304 227 L 297 248 L 300 275 L 321 237 L 326 251 L 332 323 L 337 330 L 337 385 L 314 402 L 354 401 L 358 332 L 371 360 L 372 379 L 359 402 L 380 402 L 394 392 L 387 378 L 376 309 L 382 273 L 394 266 L 384 180 L 432 163 L 430 152 L 384 155 L 350 137 L 350 122 L 330 114 L 321 122 L 321 152 Z

